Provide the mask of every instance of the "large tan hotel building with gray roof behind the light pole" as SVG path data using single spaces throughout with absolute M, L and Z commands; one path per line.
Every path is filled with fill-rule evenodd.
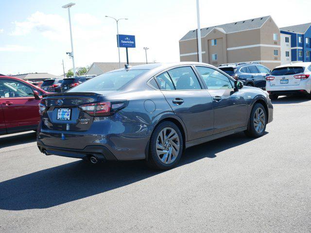
M 281 65 L 280 30 L 271 16 L 202 28 L 202 62 L 259 62 L 273 69 Z M 198 61 L 197 30 L 179 41 L 180 61 Z

